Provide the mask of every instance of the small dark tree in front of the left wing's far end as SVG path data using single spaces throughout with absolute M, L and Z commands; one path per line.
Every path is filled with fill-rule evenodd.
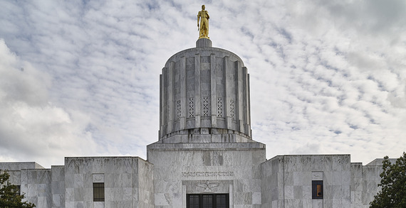
M 9 182 L 9 173 L 0 174 L 0 207 L 1 208 L 32 208 L 34 204 L 23 202 L 24 194 L 17 193 L 18 187 Z

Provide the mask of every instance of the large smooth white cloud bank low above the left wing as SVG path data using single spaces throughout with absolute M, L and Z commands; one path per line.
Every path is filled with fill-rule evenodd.
M 0 56 L 0 157 L 50 167 L 66 155 L 95 153 L 88 116 L 48 102 L 49 75 L 19 60 L 1 39 Z

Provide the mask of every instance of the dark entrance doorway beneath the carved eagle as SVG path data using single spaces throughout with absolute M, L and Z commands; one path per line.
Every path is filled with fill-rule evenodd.
M 228 194 L 187 195 L 187 208 L 228 208 Z

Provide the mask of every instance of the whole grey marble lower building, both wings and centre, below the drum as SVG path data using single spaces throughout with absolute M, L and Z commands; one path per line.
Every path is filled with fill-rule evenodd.
M 265 161 L 261 143 L 157 143 L 149 161 L 134 157 L 66 158 L 65 166 L 0 163 L 37 207 L 186 207 L 186 195 L 228 193 L 230 207 L 369 207 L 379 191 L 382 160 L 350 155 L 281 155 Z M 152 165 L 152 163 L 154 163 Z M 22 169 L 19 169 L 22 168 Z M 31 169 L 24 169 L 31 168 Z M 35 169 L 41 168 L 41 169 Z M 93 202 L 93 182 L 105 202 Z M 323 180 L 323 199 L 311 181 Z

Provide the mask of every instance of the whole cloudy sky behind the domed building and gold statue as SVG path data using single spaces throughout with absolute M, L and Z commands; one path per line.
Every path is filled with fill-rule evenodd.
M 195 46 L 202 4 L 213 47 L 249 70 L 268 159 L 406 150 L 404 0 L 0 1 L 0 161 L 146 159 L 159 75 Z

